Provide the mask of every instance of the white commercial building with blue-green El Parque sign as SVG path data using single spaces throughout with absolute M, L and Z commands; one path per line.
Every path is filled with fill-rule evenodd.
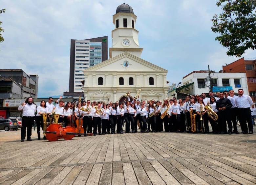
M 233 89 L 236 93 L 238 89 L 244 89 L 244 94 L 248 95 L 248 87 L 245 73 L 211 73 L 214 92 Z M 193 71 L 182 78 L 182 85 L 177 88 L 177 93 L 189 95 L 201 95 L 210 91 L 208 71 Z M 170 92 L 173 94 L 173 92 Z

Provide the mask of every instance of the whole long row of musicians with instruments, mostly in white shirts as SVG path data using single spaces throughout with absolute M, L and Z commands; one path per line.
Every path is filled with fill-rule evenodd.
M 250 96 L 244 95 L 243 89 L 238 90 L 238 96 L 233 90 L 218 92 L 214 97 L 212 91 L 209 98 L 205 93 L 195 96 L 186 96 L 185 100 L 173 98 L 162 101 L 145 101 L 134 99 L 119 104 L 118 102 L 101 103 L 96 101 L 64 102 L 60 99 L 53 105 L 53 98 L 48 102 L 41 101 L 36 107 L 32 98 L 28 98 L 18 107 L 23 110 L 21 141 L 25 140 L 26 127 L 27 140 L 31 140 L 33 120 L 37 124 L 38 140 L 40 140 L 40 127 L 43 129 L 43 113 L 59 114 L 58 123 L 63 126 L 75 124 L 73 118 L 82 119 L 84 136 L 136 133 L 140 132 L 192 132 L 210 133 L 208 121 L 211 124 L 211 133 L 239 134 L 237 118 L 243 134 L 253 134 L 251 109 L 253 102 Z M 35 112 L 37 112 L 36 116 Z M 246 124 L 248 123 L 248 127 Z M 80 124 L 80 123 L 79 123 Z M 228 130 L 227 126 L 228 125 Z M 116 129 L 117 126 L 117 129 Z M 164 128 L 163 128 L 164 127 Z M 248 132 L 249 130 L 249 132 Z M 45 139 L 45 138 L 44 138 Z

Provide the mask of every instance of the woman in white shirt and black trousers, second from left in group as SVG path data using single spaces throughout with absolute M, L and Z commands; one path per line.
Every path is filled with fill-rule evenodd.
M 35 122 L 36 122 L 36 127 L 37 127 L 37 140 L 40 140 L 40 127 L 42 127 L 42 130 L 44 130 L 44 122 L 43 122 L 43 117 L 41 114 L 47 113 L 48 109 L 46 107 L 46 102 L 44 100 L 41 101 L 40 105 L 36 107 L 36 116 L 35 116 Z M 44 139 L 45 136 L 44 136 Z

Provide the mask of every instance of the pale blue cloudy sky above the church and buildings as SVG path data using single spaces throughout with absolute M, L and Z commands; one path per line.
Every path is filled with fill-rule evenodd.
M 181 82 L 193 70 L 216 72 L 239 58 L 228 57 L 211 31 L 220 13 L 217 0 L 125 0 L 135 15 L 141 58 L 168 70 L 167 80 Z M 38 97 L 68 91 L 70 39 L 108 36 L 120 0 L 0 0 L 5 42 L 0 44 L 1 68 L 38 74 Z M 256 57 L 247 50 L 243 57 Z

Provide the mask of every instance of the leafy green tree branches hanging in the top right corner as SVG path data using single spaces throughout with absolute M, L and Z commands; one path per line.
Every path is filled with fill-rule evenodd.
M 215 40 L 228 48 L 228 56 L 240 57 L 256 48 L 256 0 L 218 0 L 221 14 L 215 14 L 211 30 L 220 33 Z

